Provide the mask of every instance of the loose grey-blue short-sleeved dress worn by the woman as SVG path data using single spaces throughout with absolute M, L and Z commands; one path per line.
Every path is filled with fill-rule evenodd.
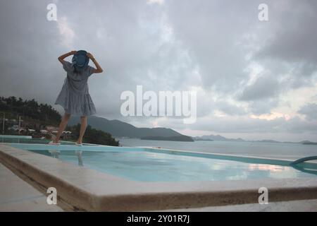
M 94 102 L 92 102 L 92 97 L 89 95 L 87 84 L 94 68 L 87 66 L 87 69 L 81 73 L 76 73 L 72 64 L 64 61 L 63 69 L 67 72 L 67 77 L 55 104 L 61 105 L 67 114 L 80 116 L 96 114 L 96 108 L 94 107 Z

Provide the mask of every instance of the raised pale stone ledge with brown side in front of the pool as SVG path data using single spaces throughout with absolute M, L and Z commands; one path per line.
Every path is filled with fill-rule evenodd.
M 163 210 L 256 203 L 258 189 L 270 201 L 317 197 L 316 179 L 267 179 L 226 182 L 132 182 L 52 157 L 0 145 L 0 159 L 79 210 Z

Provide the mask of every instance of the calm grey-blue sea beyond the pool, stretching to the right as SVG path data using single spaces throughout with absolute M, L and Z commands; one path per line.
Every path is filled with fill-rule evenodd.
M 297 160 L 317 155 L 317 145 L 302 143 L 274 143 L 259 141 L 149 141 L 137 138 L 119 138 L 120 145 L 128 147 L 161 147 L 192 152 L 219 153 Z

